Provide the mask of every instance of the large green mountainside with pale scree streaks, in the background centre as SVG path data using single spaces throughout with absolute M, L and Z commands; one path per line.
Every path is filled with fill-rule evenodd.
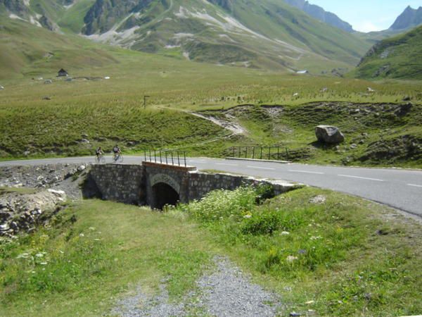
M 9 3 L 9 2 L 8 2 Z M 311 18 L 283 1 L 23 0 L 0 6 L 24 19 L 96 42 L 179 59 L 313 73 L 352 68 L 369 49 L 364 39 Z M 229 9 L 228 9 L 229 8 Z

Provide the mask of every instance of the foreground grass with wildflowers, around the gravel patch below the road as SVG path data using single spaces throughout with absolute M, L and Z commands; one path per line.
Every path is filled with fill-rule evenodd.
M 316 195 L 326 201 L 313 204 Z M 320 316 L 421 311 L 420 225 L 385 206 L 320 189 L 298 189 L 260 206 L 255 199 L 250 189 L 215 192 L 168 213 L 110 201 L 72 204 L 48 227 L 0 242 L 1 314 L 109 315 L 119 299 L 139 290 L 152 297 L 162 285 L 170 303 L 184 302 L 216 254 L 281 295 L 281 316 L 308 309 Z M 210 211 L 221 217 L 207 217 Z

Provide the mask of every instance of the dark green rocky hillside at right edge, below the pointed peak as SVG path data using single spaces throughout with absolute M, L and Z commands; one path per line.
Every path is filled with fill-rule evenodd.
M 371 79 L 422 79 L 422 27 L 373 46 L 354 75 Z

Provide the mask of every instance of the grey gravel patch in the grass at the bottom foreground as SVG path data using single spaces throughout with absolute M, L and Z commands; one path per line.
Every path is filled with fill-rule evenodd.
M 117 303 L 113 313 L 122 317 L 138 316 L 275 316 L 280 300 L 250 278 L 229 259 L 216 256 L 216 268 L 197 281 L 197 290 L 181 303 L 169 302 L 165 281 L 160 294 L 148 297 L 141 287 L 132 297 Z

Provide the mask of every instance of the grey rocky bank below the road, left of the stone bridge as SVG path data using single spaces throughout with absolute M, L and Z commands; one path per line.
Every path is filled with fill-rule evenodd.
M 82 197 L 84 165 L 0 168 L 0 236 L 13 237 L 48 225 L 67 199 Z

